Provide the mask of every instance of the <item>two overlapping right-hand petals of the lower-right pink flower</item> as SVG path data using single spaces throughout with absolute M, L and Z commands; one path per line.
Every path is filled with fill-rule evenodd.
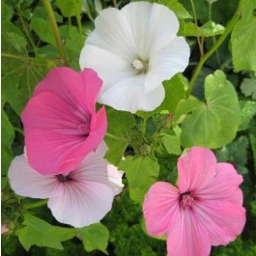
M 216 164 L 216 176 L 197 190 L 200 201 L 195 208 L 210 234 L 213 245 L 227 244 L 242 233 L 245 210 L 242 208 L 242 176 L 229 163 Z

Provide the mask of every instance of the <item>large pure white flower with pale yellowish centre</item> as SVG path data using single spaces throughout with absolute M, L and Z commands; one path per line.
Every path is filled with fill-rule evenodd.
M 164 99 L 162 81 L 188 64 L 176 15 L 163 5 L 135 2 L 101 11 L 95 27 L 79 62 L 103 80 L 99 101 L 132 113 L 154 110 Z

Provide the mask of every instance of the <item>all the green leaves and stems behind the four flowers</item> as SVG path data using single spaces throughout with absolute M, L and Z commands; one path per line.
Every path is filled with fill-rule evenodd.
M 131 115 L 107 108 L 106 158 L 126 172 L 126 187 L 102 223 L 82 229 L 57 223 L 41 203 L 15 195 L 7 171 L 23 152 L 19 116 L 37 83 L 57 66 L 79 71 L 79 53 L 95 17 L 128 1 L 51 1 L 63 51 L 45 2 L 1 2 L 2 223 L 9 228 L 2 236 L 3 255 L 165 255 L 165 242 L 145 232 L 141 203 L 157 180 L 175 183 L 178 156 L 200 145 L 234 164 L 244 180 L 245 229 L 236 242 L 213 248 L 212 255 L 255 256 L 256 1 L 151 1 L 179 17 L 179 34 L 191 48 L 189 66 L 164 82 L 166 98 L 155 111 Z

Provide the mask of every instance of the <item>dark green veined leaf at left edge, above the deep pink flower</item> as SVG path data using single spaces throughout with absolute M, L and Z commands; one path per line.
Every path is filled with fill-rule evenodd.
M 28 57 L 26 44 L 18 34 L 3 33 L 2 93 L 18 115 L 49 68 L 43 59 Z

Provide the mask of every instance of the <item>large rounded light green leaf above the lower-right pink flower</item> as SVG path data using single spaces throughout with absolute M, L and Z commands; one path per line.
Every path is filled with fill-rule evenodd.
M 198 145 L 215 149 L 226 145 L 236 136 L 241 119 L 238 96 L 222 71 L 207 76 L 205 98 L 206 102 L 192 101 L 198 106 L 193 105 L 193 110 L 182 124 L 184 147 Z M 189 102 L 178 106 L 177 112 L 189 111 Z

